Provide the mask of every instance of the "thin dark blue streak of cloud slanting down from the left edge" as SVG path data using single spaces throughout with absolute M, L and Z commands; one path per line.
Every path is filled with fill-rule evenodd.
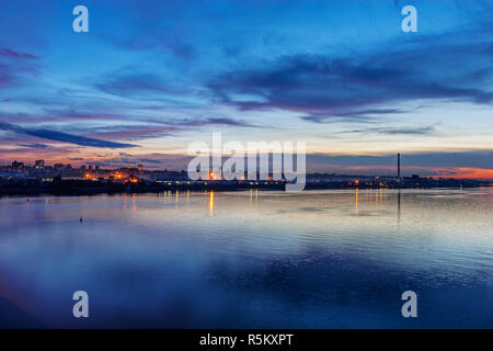
M 88 138 L 83 136 L 77 136 L 68 133 L 49 131 L 49 129 L 27 129 L 9 123 L 0 123 L 0 131 L 13 132 L 16 134 L 25 134 L 30 136 L 35 136 L 43 139 L 76 144 L 80 146 L 90 147 L 104 147 L 104 148 L 127 148 L 136 147 L 133 144 L 121 144 L 114 141 L 100 140 L 94 138 Z

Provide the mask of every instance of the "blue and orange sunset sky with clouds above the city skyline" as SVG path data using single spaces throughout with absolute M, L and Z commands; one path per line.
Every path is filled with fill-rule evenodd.
M 185 169 L 220 132 L 306 141 L 308 171 L 391 174 L 401 152 L 404 174 L 493 179 L 492 16 L 480 0 L 2 0 L 0 163 Z

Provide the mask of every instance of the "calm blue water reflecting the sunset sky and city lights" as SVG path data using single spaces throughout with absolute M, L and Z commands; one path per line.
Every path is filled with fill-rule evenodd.
M 493 189 L 0 199 L 0 327 L 493 328 L 492 208 Z

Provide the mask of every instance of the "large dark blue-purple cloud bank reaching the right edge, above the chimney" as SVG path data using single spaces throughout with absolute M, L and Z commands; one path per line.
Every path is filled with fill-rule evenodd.
M 333 57 L 284 56 L 211 80 L 223 103 L 241 110 L 280 109 L 300 112 L 305 121 L 367 121 L 403 113 L 386 105 L 416 100 L 490 104 L 493 78 L 490 46 L 423 39 L 383 47 L 374 54 Z M 254 97 L 250 101 L 236 95 Z

